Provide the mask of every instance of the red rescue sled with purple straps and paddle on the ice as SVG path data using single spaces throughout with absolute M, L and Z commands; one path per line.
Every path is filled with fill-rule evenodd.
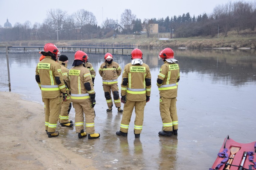
M 256 142 L 238 143 L 229 138 L 218 153 L 218 157 L 209 170 L 256 170 Z

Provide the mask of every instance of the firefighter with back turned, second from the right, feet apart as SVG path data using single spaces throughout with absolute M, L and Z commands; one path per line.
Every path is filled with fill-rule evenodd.
M 127 136 L 133 108 L 135 108 L 134 135 L 139 138 L 142 131 L 144 108 L 150 99 L 151 74 L 148 65 L 142 62 L 141 50 L 134 49 L 131 57 L 132 62 L 126 64 L 123 70 L 121 102 L 125 104 L 120 131 L 117 131 L 116 134 Z

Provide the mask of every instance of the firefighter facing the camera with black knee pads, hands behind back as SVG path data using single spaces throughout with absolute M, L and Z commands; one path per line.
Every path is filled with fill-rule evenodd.
M 108 104 L 107 111 L 112 111 L 112 97 L 111 91 L 113 93 L 114 104 L 119 112 L 123 112 L 121 109 L 121 102 L 118 92 L 117 78 L 122 72 L 121 67 L 113 61 L 113 56 L 111 53 L 105 54 L 105 62 L 101 64 L 99 68 L 99 74 L 102 76 L 103 90 Z

